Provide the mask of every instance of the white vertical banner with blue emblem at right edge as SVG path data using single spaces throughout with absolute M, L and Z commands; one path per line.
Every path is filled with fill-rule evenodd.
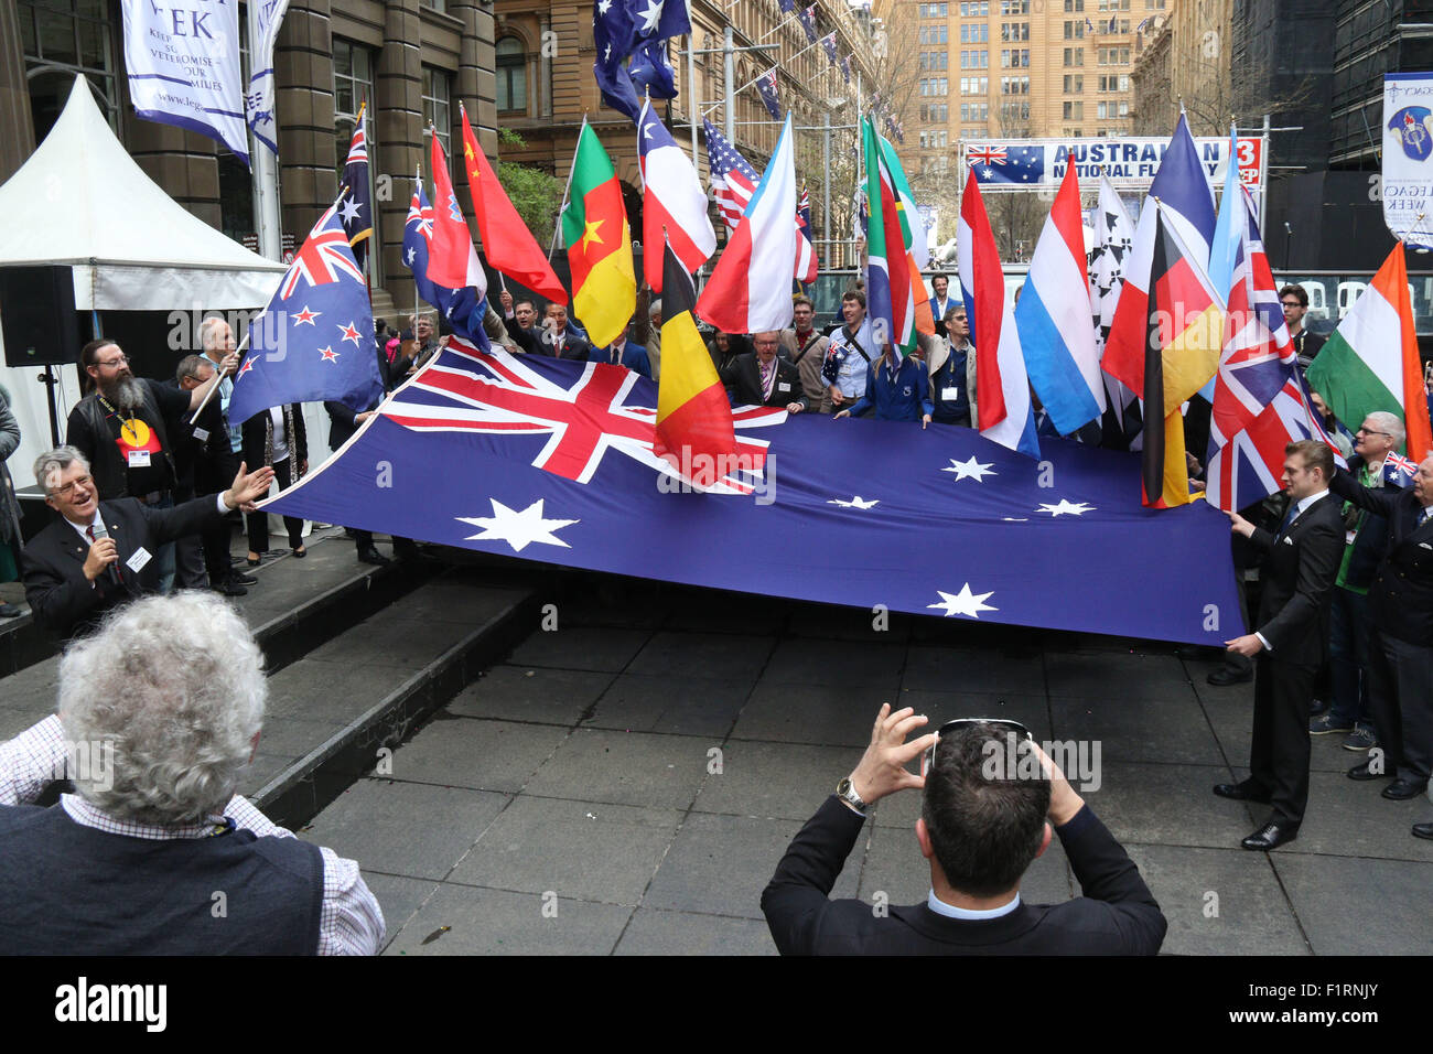
M 1404 245 L 1433 247 L 1433 73 L 1383 77 L 1383 222 Z

